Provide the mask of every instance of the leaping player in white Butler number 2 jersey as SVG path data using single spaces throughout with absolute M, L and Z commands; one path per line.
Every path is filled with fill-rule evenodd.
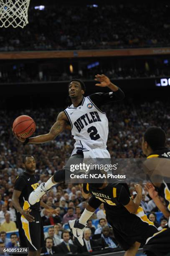
M 71 158 L 110 158 L 107 151 L 108 120 L 100 107 L 108 102 L 122 100 L 124 93 L 104 74 L 97 74 L 95 77 L 94 80 L 100 82 L 96 86 L 108 87 L 112 92 L 99 92 L 84 97 L 84 82 L 79 79 L 72 79 L 69 83 L 69 96 L 72 105 L 58 114 L 56 123 L 51 127 L 50 132 L 26 139 L 15 134 L 18 140 L 23 143 L 52 141 L 70 123 L 71 134 L 76 140 Z M 34 190 L 34 193 L 31 193 L 29 197 L 30 204 L 34 205 L 48 189 L 56 183 L 64 181 L 65 170 L 66 168 L 57 171 L 46 183 L 42 183 L 38 189 Z

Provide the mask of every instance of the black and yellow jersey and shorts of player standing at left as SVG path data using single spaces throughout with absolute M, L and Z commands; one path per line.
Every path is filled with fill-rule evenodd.
M 33 222 L 28 222 L 26 218 L 17 213 L 17 223 L 22 247 L 29 247 L 30 251 L 37 251 L 43 247 L 43 221 L 40 216 L 39 208 L 40 201 L 35 205 L 30 205 L 28 197 L 30 193 L 39 186 L 38 181 L 34 175 L 26 172 L 20 174 L 15 180 L 14 189 L 21 191 L 19 197 L 20 206 L 23 210 L 31 209 L 30 215 L 34 217 Z

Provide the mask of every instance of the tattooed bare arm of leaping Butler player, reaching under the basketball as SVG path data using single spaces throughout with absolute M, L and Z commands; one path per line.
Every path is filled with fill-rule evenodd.
M 60 112 L 58 114 L 56 123 L 53 124 L 49 133 L 29 138 L 28 143 L 45 143 L 48 141 L 53 141 L 53 139 L 56 138 L 56 136 L 58 136 L 66 128 L 68 122 L 69 120 L 66 114 L 63 111 Z M 25 142 L 25 138 L 18 137 L 16 133 L 14 135 L 19 141 L 23 143 Z

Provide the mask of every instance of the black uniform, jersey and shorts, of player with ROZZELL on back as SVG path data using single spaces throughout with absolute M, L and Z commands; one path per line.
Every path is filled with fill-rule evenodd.
M 90 192 L 93 195 L 88 202 L 91 207 L 97 209 L 101 202 L 104 203 L 107 221 L 113 228 L 116 240 L 125 251 L 136 241 L 145 243 L 148 237 L 157 232 L 157 228 L 151 222 L 142 221 L 124 207 L 131 200 L 127 184 L 112 183 L 104 189 L 93 188 L 92 184 L 88 183 L 83 186 L 85 193 Z

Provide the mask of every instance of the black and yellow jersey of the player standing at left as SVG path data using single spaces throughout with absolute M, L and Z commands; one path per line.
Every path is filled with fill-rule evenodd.
M 39 186 L 39 183 L 34 175 L 30 175 L 26 172 L 23 174 L 20 174 L 16 180 L 14 189 L 21 191 L 20 197 L 19 197 L 19 203 L 20 206 L 23 208 L 23 210 L 26 210 L 28 208 L 32 210 L 39 210 L 40 208 L 40 201 L 36 202 L 35 205 L 30 205 L 28 202 L 28 197 L 30 193 L 35 190 Z

